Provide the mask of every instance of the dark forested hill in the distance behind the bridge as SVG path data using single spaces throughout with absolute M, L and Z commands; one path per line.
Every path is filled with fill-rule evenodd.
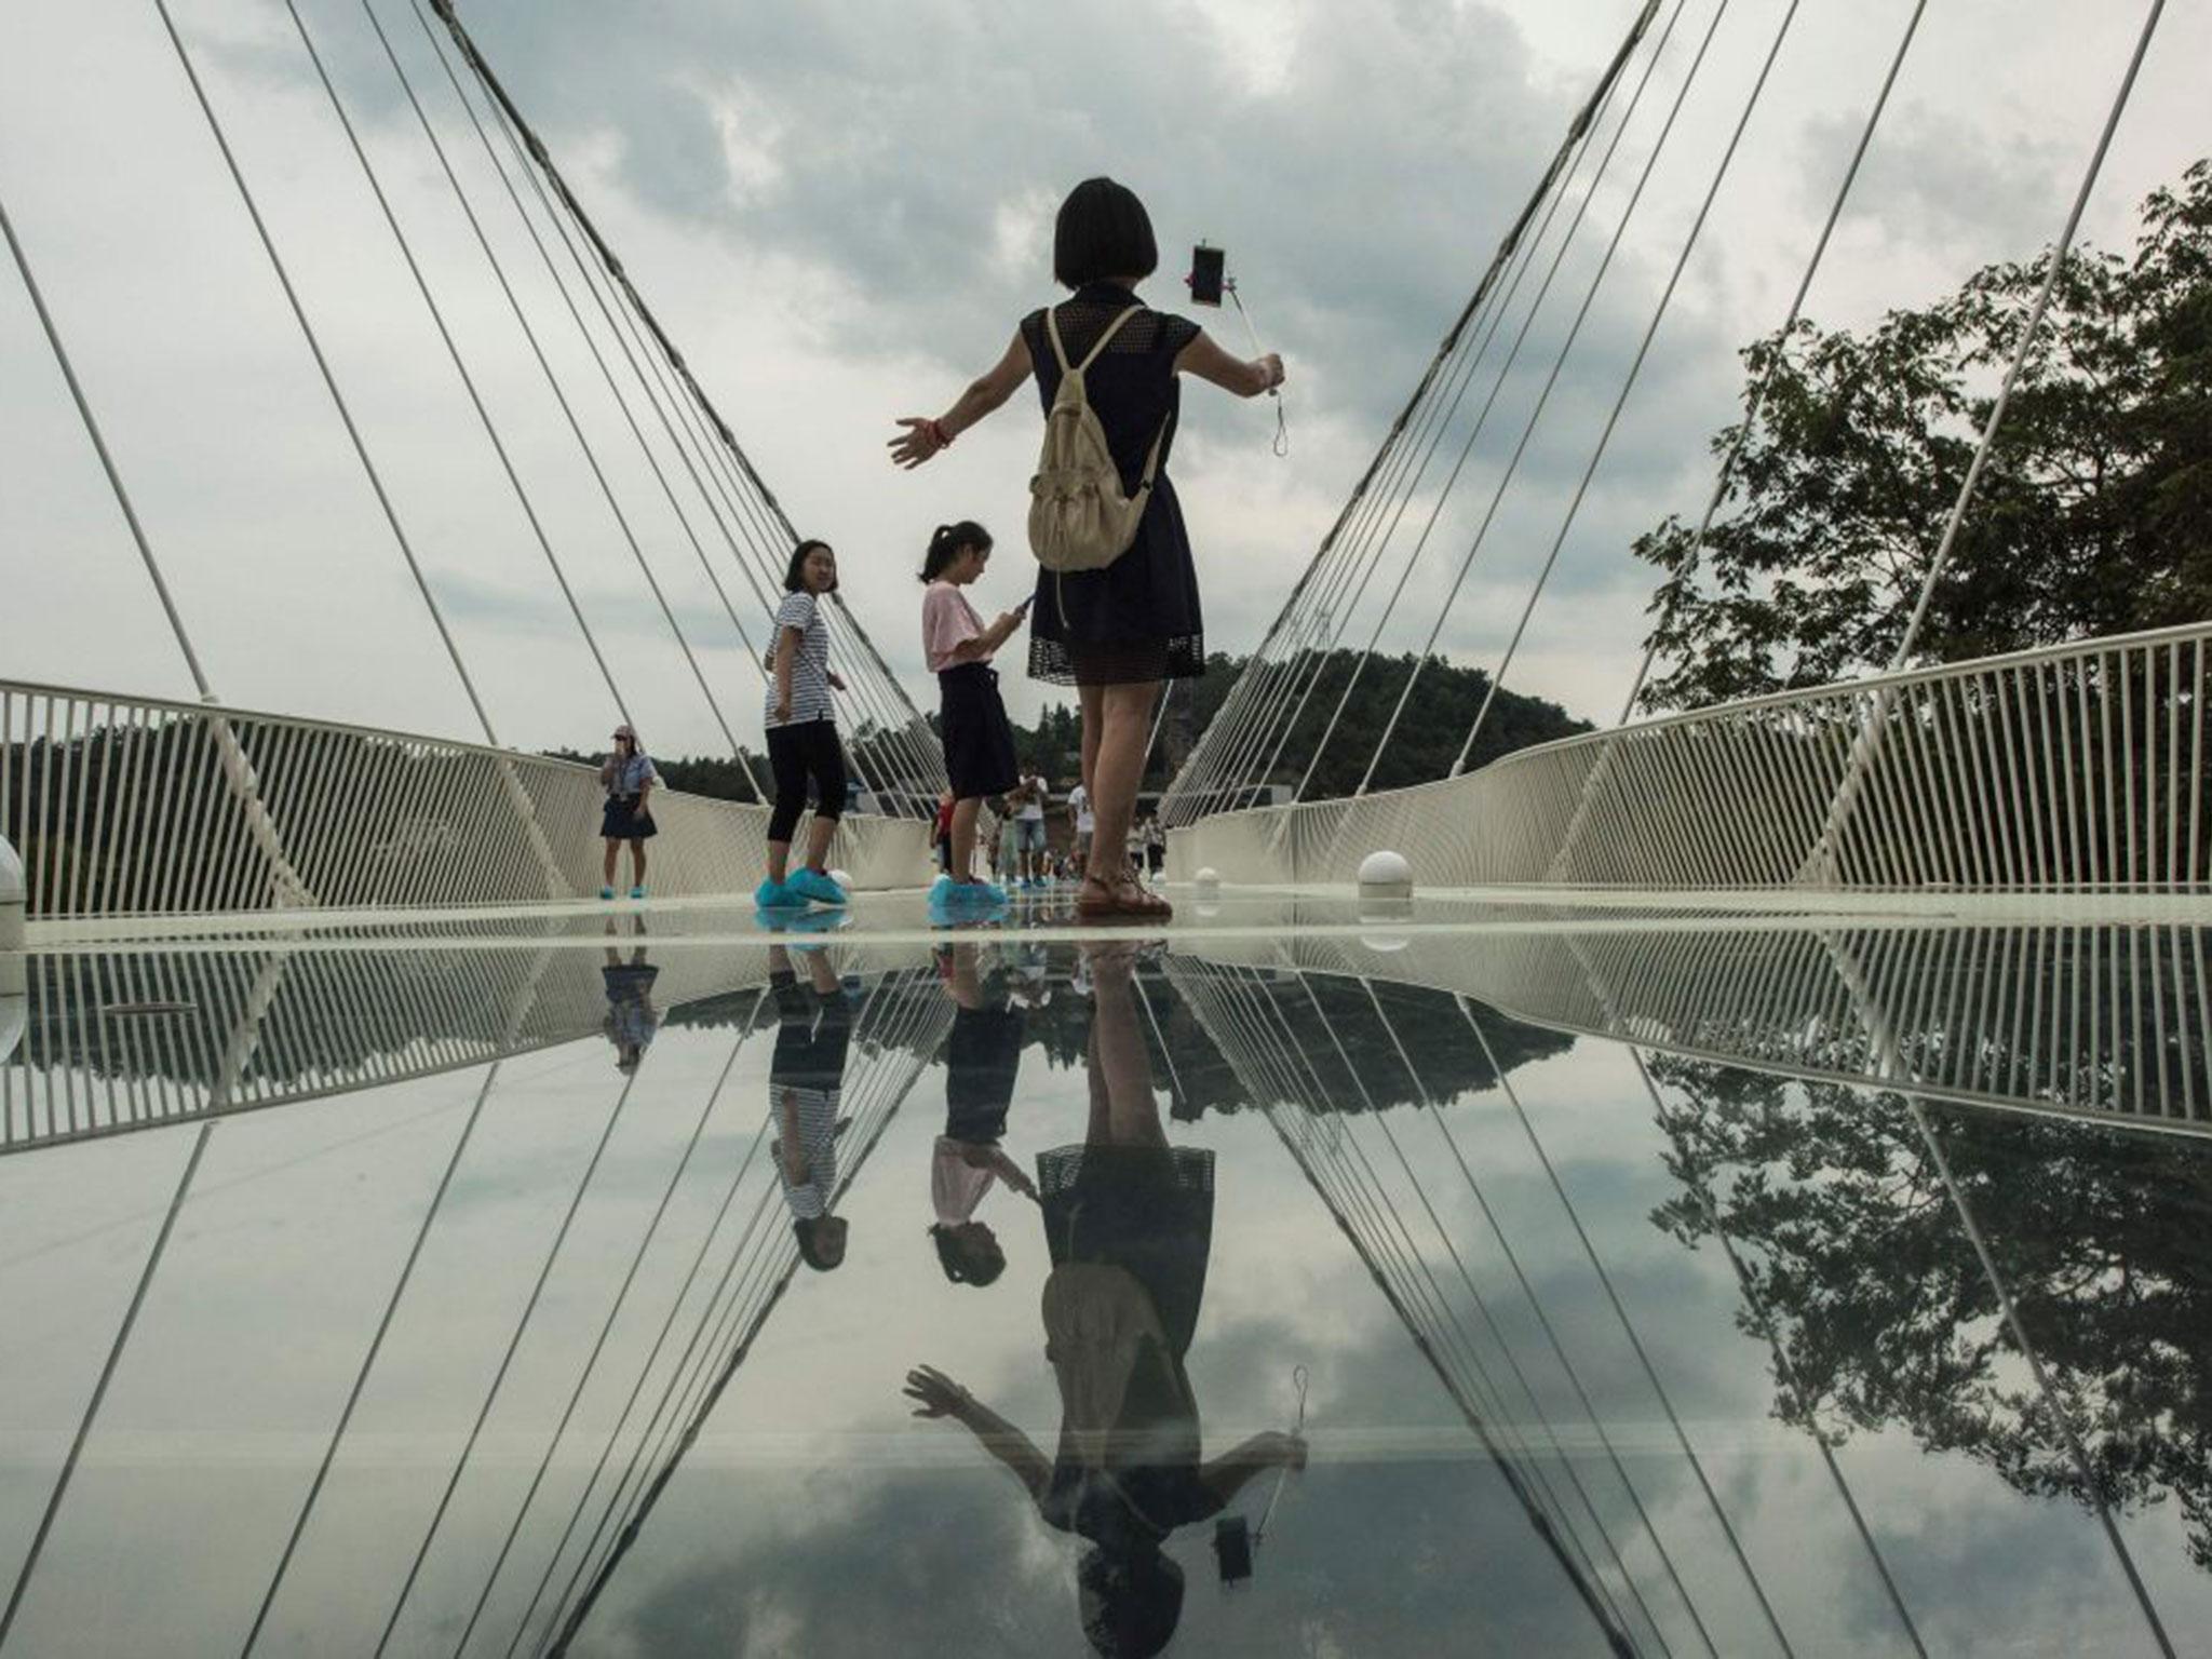
M 1197 743 L 1199 732 L 1206 730 L 1206 723 L 1228 701 L 1237 677 L 1245 670 L 1245 657 L 1214 653 L 1206 659 L 1203 677 L 1175 684 L 1168 701 L 1168 723 L 1161 730 L 1159 745 L 1152 750 L 1152 765 L 1144 779 L 1146 790 L 1164 790 L 1168 785 L 1190 745 Z M 1294 666 L 1272 670 L 1279 679 L 1274 697 L 1281 699 L 1281 706 L 1287 708 L 1301 697 L 1305 699 L 1305 712 L 1298 717 L 1290 741 L 1281 745 L 1281 757 L 1272 772 L 1276 783 L 1296 783 L 1305 772 L 1305 763 L 1321 741 L 1321 732 L 1329 723 L 1345 684 L 1352 681 L 1356 661 L 1358 653 L 1354 650 L 1332 650 L 1325 657 L 1307 653 Z M 1411 655 L 1367 659 L 1367 668 L 1360 670 L 1358 684 L 1352 688 L 1352 701 L 1345 703 L 1343 719 L 1336 723 L 1336 734 L 1329 739 L 1329 748 L 1314 772 L 1314 783 L 1307 787 L 1305 799 L 1352 794 L 1358 787 L 1367 757 L 1374 752 L 1376 739 L 1383 737 L 1383 728 L 1398 706 L 1398 692 L 1405 690 L 1411 672 Z M 1482 695 L 1489 686 L 1491 677 L 1480 668 L 1455 668 L 1449 661 L 1431 657 L 1420 675 L 1420 684 L 1413 688 L 1411 703 L 1407 703 L 1398 721 L 1389 752 L 1376 765 L 1374 787 L 1391 790 L 1451 772 L 1451 761 L 1460 752 L 1460 743 L 1467 741 L 1467 730 L 1475 723 L 1475 712 L 1482 708 Z M 1307 688 L 1312 690 L 1307 692 Z M 929 710 L 929 721 L 931 726 L 936 723 L 933 708 Z M 1588 721 L 1568 717 L 1557 703 L 1502 690 L 1491 706 L 1489 719 L 1482 723 L 1482 734 L 1475 739 L 1469 770 L 1531 743 L 1548 743 L 1555 737 L 1573 737 L 1586 730 L 1590 730 Z M 1073 703 L 1046 703 L 1035 726 L 1013 728 L 1013 741 L 1022 754 L 1022 763 L 1035 768 L 1055 785 L 1066 785 L 1075 779 L 1082 730 Z M 557 759 L 580 761 L 595 757 L 557 752 Z M 1254 763 L 1259 759 L 1254 757 Z M 728 757 L 670 759 L 655 754 L 653 763 L 675 790 L 750 799 L 737 763 Z M 765 768 L 757 770 L 765 774 Z

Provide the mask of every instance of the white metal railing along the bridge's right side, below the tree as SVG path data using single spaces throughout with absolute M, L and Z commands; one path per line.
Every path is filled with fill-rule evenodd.
M 1754 697 L 1460 779 L 1206 818 L 1175 867 L 1440 885 L 2212 887 L 2212 624 Z

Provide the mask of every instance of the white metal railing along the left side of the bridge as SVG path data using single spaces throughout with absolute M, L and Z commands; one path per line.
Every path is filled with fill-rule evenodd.
M 31 918 L 515 905 L 599 889 L 573 761 L 208 703 L 0 681 L 0 836 Z M 650 889 L 743 894 L 768 807 L 657 790 Z M 854 814 L 860 887 L 927 878 L 929 827 Z

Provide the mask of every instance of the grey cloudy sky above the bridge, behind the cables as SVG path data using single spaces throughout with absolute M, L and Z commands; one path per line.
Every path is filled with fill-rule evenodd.
M 400 0 L 369 2 L 717 699 L 754 741 L 754 668 L 584 336 L 531 263 L 416 18 Z M 648 741 L 661 752 L 719 748 L 361 0 L 299 4 Z M 1442 624 L 1455 659 L 1495 661 L 1787 11 L 1787 0 L 1728 0 L 1593 290 L 1717 4 L 1683 0 L 1469 471 L 1411 566 L 1383 630 L 1387 648 L 1411 648 L 1438 617 L 1573 312 L 1593 294 L 1548 414 Z M 885 462 L 883 438 L 900 414 L 942 409 L 995 358 L 1015 319 L 1051 296 L 1051 217 L 1075 179 L 1113 173 L 1150 204 L 1164 248 L 1155 303 L 1175 305 L 1192 241 L 1225 246 L 1252 316 L 1290 365 L 1287 458 L 1270 453 L 1267 407 L 1208 387 L 1188 400 L 1175 456 L 1210 644 L 1243 650 L 1336 518 L 1635 9 L 1133 0 L 1104 22 L 1073 7 L 980 0 L 473 0 L 465 15 L 790 518 L 838 544 L 849 602 L 929 703 L 911 564 L 931 524 L 973 515 L 1006 546 L 982 597 L 1013 597 L 1026 575 L 1020 518 L 1037 427 L 1018 403 L 916 476 Z M 1905 0 L 1796 9 L 1564 542 L 1515 686 L 1588 717 L 1615 710 L 1648 591 L 1628 538 L 1666 511 L 1701 507 L 1705 434 L 1728 416 L 1734 349 L 1781 321 L 1907 11 Z M 290 18 L 274 0 L 175 0 L 175 13 L 498 734 L 593 743 L 606 692 Z M 1672 0 L 1661 22 L 1668 15 Z M 1931 7 L 1812 314 L 1865 323 L 2046 241 L 2139 22 L 2132 0 Z M 2212 15 L 2172 9 L 2093 201 L 2093 241 L 2126 243 L 2132 204 L 2212 148 L 2205 62 Z M 215 688 L 239 706 L 473 734 L 150 4 L 77 0 L 9 20 L 0 201 Z M 1208 321 L 1241 347 L 1232 319 Z M 1478 378 L 1469 414 L 1486 387 Z M 1438 476 L 1462 434 L 1449 434 Z M 0 675 L 188 695 L 31 305 L 4 268 L 0 456 Z M 661 462 L 672 471 L 666 453 Z M 1374 628 L 1431 507 L 1433 491 L 1407 513 L 1352 617 L 1356 639 Z M 728 553 L 708 553 L 752 626 Z M 1042 701 L 1020 675 L 1006 686 L 1018 712 Z

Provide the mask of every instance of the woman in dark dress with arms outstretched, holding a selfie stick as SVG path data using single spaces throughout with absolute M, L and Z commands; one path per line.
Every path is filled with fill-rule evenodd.
M 1040 571 L 1029 624 L 1029 672 L 1075 686 L 1084 710 L 1084 787 L 1095 832 L 1075 907 L 1086 918 L 1170 914 L 1128 867 L 1126 838 L 1144 774 L 1152 703 L 1164 679 L 1206 672 L 1206 626 L 1183 509 L 1168 482 L 1181 383 L 1201 380 L 1256 398 L 1283 383 L 1274 354 L 1243 361 L 1183 316 L 1155 312 L 1137 283 L 1159 268 L 1144 204 L 1113 179 L 1084 179 L 1060 204 L 1053 279 L 1071 299 L 1031 312 L 1006 354 L 960 400 L 929 420 L 909 416 L 891 460 L 920 467 L 1033 378 L 1053 407 L 1064 365 L 1084 365 L 1091 409 L 1106 431 L 1124 493 L 1135 500 L 1152 471 L 1137 538 L 1102 571 Z M 1095 354 L 1095 358 L 1093 358 Z M 1155 460 L 1157 456 L 1157 460 Z

